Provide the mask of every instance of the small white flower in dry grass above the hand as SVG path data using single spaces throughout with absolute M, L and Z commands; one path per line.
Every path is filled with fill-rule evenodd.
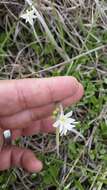
M 22 14 L 20 17 L 25 19 L 26 23 L 28 22 L 33 27 L 34 20 L 37 18 L 34 7 L 32 6 L 31 10 L 26 10 L 26 13 Z

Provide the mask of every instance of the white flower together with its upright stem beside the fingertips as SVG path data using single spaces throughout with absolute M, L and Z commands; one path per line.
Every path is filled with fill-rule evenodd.
M 72 118 L 73 112 L 70 111 L 67 114 L 64 113 L 62 105 L 59 106 L 59 110 L 56 114 L 56 121 L 53 124 L 53 127 L 56 128 L 56 144 L 57 144 L 57 155 L 59 156 L 59 136 L 67 135 L 67 132 L 77 134 L 84 139 L 83 135 L 78 132 L 75 127 L 78 122 Z

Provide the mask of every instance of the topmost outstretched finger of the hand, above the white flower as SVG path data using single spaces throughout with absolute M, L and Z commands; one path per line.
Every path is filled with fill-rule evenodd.
M 61 101 L 77 89 L 78 81 L 68 76 L 1 81 L 0 116 Z

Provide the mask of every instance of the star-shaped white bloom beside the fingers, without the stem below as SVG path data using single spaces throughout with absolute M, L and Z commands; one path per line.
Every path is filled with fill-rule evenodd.
M 53 124 L 53 127 L 59 128 L 60 135 L 66 135 L 67 131 L 71 131 L 73 133 L 76 133 L 78 136 L 84 138 L 75 128 L 75 124 L 78 122 L 75 121 L 75 119 L 71 118 L 72 111 L 68 112 L 67 114 L 64 114 L 63 107 L 60 105 L 60 113 L 57 117 L 56 122 Z

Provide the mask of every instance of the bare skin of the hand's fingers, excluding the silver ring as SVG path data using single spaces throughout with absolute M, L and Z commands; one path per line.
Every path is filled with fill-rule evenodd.
M 57 102 L 69 106 L 83 96 L 83 86 L 74 77 L 0 81 L 0 142 L 2 132 L 12 130 L 12 138 L 52 133 L 52 111 Z M 0 150 L 0 171 L 22 167 L 39 172 L 43 165 L 31 150 L 16 146 Z

